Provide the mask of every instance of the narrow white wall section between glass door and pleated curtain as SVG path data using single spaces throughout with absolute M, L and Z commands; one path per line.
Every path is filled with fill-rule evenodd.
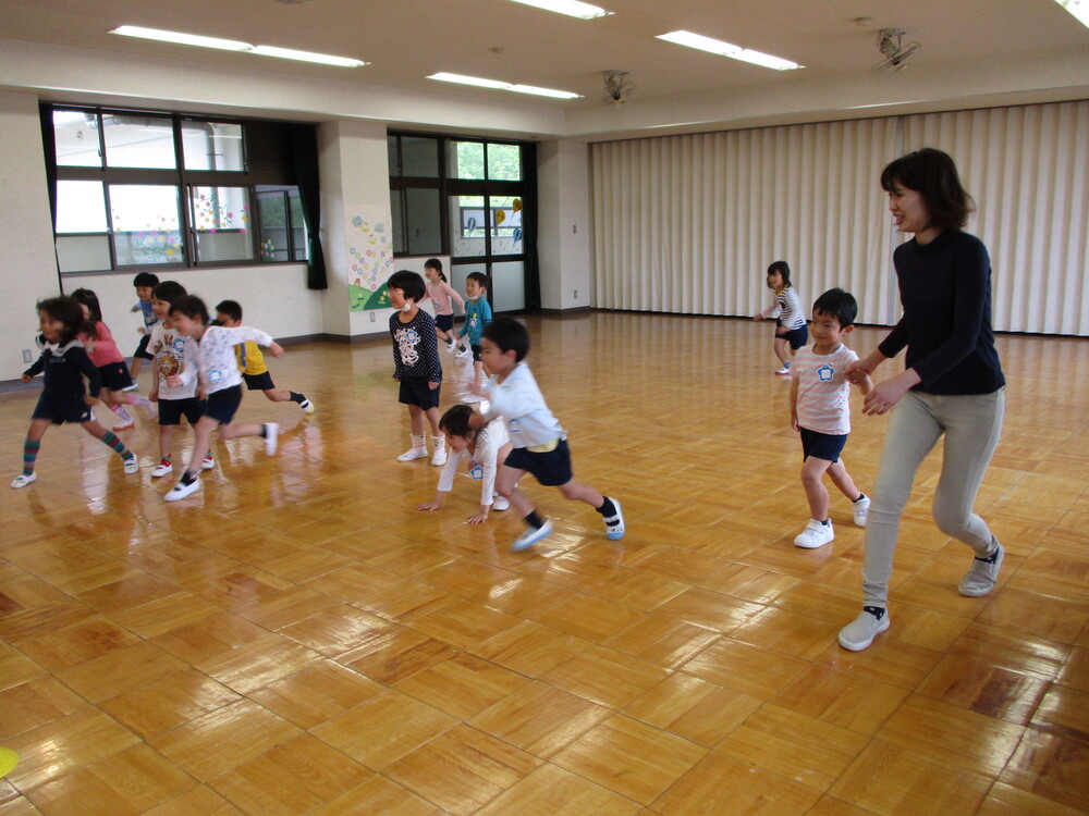
M 537 254 L 541 306 L 577 309 L 591 292 L 589 146 L 551 139 L 537 148 Z

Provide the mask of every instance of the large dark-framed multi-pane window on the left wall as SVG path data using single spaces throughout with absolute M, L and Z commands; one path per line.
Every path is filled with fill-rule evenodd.
M 62 273 L 306 260 L 279 123 L 49 110 Z

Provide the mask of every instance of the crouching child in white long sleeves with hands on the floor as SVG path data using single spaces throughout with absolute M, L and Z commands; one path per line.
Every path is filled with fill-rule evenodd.
M 499 462 L 511 453 L 511 438 L 500 419 L 493 419 L 480 430 L 469 425 L 473 409 L 455 405 L 442 415 L 439 428 L 446 434 L 446 446 L 453 452 L 439 474 L 439 490 L 435 500 L 417 505 L 417 510 L 438 510 L 454 486 L 457 466 L 463 461 L 469 477 L 480 483 L 480 512 L 469 516 L 468 523 L 482 524 L 491 510 L 505 510 L 511 503 L 495 493 L 495 473 Z

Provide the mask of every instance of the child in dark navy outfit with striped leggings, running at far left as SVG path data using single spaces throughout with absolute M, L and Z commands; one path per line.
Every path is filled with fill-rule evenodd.
M 84 378 L 91 393 L 102 393 L 103 401 L 106 390 L 98 369 L 77 339 L 85 323 L 83 307 L 75 298 L 62 295 L 42 300 L 37 308 L 45 347 L 37 361 L 23 372 L 23 382 L 45 372 L 46 384 L 30 415 L 30 429 L 23 443 L 23 472 L 15 477 L 11 486 L 19 490 L 37 480 L 34 465 L 41 449 L 41 437 L 49 425 L 65 422 L 78 422 L 87 433 L 115 450 L 124 460 L 126 473 L 139 472 L 136 454 L 112 431 L 98 424 L 87 400 Z

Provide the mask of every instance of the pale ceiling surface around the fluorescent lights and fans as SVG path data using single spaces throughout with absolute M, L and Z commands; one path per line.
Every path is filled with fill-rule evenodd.
M 1089 28 L 1054 0 L 597 1 L 615 13 L 580 21 L 509 0 L 4 0 L 0 33 L 13 40 L 193 61 L 224 71 L 256 69 L 480 100 L 514 96 L 425 78 L 448 71 L 582 94 L 584 98 L 570 101 L 525 99 L 576 116 L 605 106 L 607 70 L 629 72 L 634 96 L 628 109 L 738 89 L 751 96 L 816 88 L 843 77 L 869 81 L 870 70 L 882 59 L 876 38 L 884 27 L 903 28 L 905 40 L 921 45 L 913 65 L 894 82 L 913 72 L 952 77 L 960 63 L 1024 64 L 1036 58 L 1053 60 L 1056 53 L 1089 64 Z M 122 24 L 354 57 L 371 64 L 323 67 L 107 33 Z M 770 71 L 654 39 L 678 28 L 806 67 Z

